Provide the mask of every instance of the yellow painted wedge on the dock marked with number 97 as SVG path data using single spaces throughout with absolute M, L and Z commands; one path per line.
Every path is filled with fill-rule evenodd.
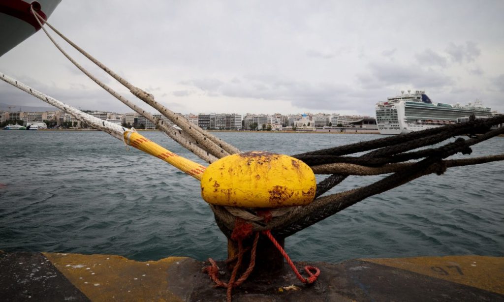
M 360 259 L 504 294 L 504 258 L 446 256 Z

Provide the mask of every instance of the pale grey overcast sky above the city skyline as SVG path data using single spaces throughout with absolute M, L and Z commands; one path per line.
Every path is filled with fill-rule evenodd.
M 49 22 L 175 112 L 374 116 L 376 102 L 408 89 L 504 112 L 502 12 L 503 1 L 475 0 L 63 0 Z M 0 57 L 0 70 L 74 107 L 132 111 L 43 31 Z M 0 103 L 42 101 L 2 82 Z

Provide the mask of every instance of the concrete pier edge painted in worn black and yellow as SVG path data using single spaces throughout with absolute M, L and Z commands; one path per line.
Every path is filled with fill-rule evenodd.
M 301 269 L 308 263 L 298 262 Z M 504 258 L 485 256 L 353 259 L 309 263 L 322 271 L 312 285 L 290 269 L 247 280 L 233 301 L 502 301 Z M 138 262 L 114 255 L 0 254 L 3 301 L 224 301 L 201 270 L 207 263 L 169 257 Z M 227 280 L 229 272 L 221 278 Z

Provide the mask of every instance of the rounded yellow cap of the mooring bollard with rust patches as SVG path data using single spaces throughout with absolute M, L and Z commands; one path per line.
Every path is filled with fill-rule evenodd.
M 211 164 L 201 178 L 201 195 L 215 205 L 276 208 L 306 205 L 317 188 L 303 162 L 269 152 L 233 154 Z

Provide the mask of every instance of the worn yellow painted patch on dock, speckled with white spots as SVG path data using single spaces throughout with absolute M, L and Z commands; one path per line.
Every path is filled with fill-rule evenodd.
M 115 255 L 43 253 L 93 301 L 182 301 L 168 290 L 168 268 L 186 257 L 137 262 Z

